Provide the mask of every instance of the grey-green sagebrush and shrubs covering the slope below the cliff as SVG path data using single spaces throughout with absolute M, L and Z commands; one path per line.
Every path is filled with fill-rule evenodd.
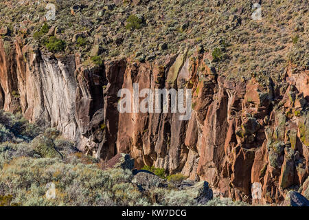
M 56 129 L 41 129 L 21 115 L 0 111 L 0 206 L 196 206 L 192 192 L 174 185 L 141 191 L 132 183 L 133 172 L 100 168 L 98 159 L 78 151 Z M 183 175 L 159 177 L 175 183 Z M 54 183 L 56 199 L 45 196 Z M 158 201 L 152 199 L 153 195 Z M 209 206 L 240 206 L 230 199 L 214 199 Z

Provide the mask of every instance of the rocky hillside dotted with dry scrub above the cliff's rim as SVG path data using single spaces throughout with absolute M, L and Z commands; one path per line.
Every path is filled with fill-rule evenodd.
M 41 50 L 79 52 L 84 61 L 92 56 L 152 61 L 197 45 L 212 54 L 216 68 L 231 79 L 272 74 L 280 82 L 286 62 L 308 67 L 306 1 L 263 1 L 261 21 L 251 18 L 253 2 L 243 0 L 49 3 L 56 6 L 56 19 L 45 21 L 43 2 L 2 1 L 5 41 L 19 36 L 30 45 L 39 42 Z M 225 51 L 222 41 L 229 44 Z M 97 65 L 85 64 L 91 63 Z

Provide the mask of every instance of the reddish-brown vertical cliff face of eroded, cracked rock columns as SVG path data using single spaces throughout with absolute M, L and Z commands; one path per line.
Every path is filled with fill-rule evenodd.
M 86 68 L 76 56 L 41 54 L 16 39 L 0 41 L 0 107 L 53 126 L 85 153 L 104 161 L 119 153 L 145 164 L 207 181 L 225 197 L 283 201 L 308 179 L 309 72 L 286 67 L 271 78 L 233 82 L 219 76 L 209 54 L 187 51 L 139 63 L 130 58 Z M 179 113 L 119 113 L 119 89 L 192 88 L 192 117 Z M 139 98 L 139 101 L 144 98 Z

